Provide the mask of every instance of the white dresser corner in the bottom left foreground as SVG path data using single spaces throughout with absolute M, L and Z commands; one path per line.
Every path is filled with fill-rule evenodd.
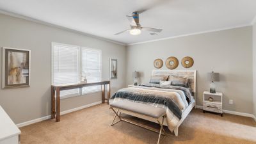
M 0 106 L 0 144 L 18 144 L 20 130 Z

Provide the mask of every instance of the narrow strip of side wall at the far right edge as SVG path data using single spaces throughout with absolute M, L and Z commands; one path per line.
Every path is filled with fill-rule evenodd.
M 253 114 L 256 117 L 256 22 L 253 24 Z

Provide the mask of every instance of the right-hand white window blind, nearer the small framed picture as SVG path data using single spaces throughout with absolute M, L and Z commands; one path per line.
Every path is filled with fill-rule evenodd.
M 101 81 L 101 51 L 97 49 L 81 49 L 81 71 L 88 83 Z M 99 92 L 101 86 L 88 86 L 82 88 L 82 94 Z

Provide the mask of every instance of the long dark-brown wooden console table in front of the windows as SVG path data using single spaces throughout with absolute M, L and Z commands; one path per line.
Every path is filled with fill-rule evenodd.
M 56 122 L 60 122 L 60 91 L 61 90 L 70 90 L 74 88 L 83 88 L 86 86 L 97 86 L 101 85 L 101 93 L 102 93 L 102 103 L 105 103 L 105 100 L 110 99 L 110 81 L 99 81 L 95 83 L 73 83 L 73 84 L 58 84 L 52 85 L 52 111 L 51 111 L 51 118 L 56 118 Z M 105 86 L 108 85 L 108 98 L 105 99 Z M 56 96 L 55 96 L 56 93 Z M 56 109 L 55 109 L 56 106 Z

